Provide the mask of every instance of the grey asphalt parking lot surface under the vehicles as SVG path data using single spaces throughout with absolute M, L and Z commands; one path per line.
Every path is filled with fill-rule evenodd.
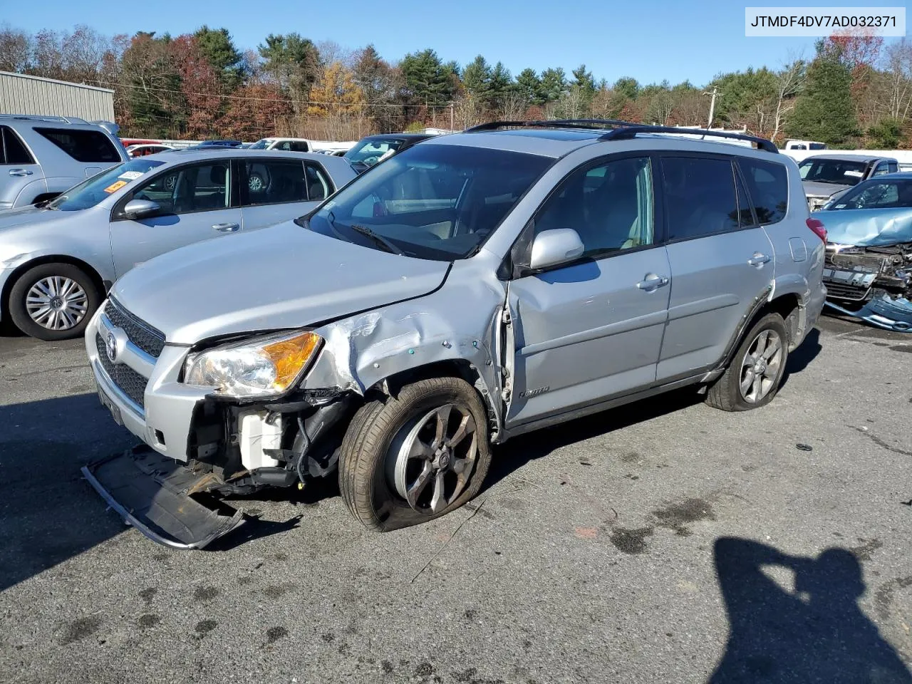
M 135 443 L 81 341 L 0 337 L 0 681 L 912 681 L 909 352 L 825 317 L 764 409 L 676 392 L 509 442 L 429 524 L 277 491 L 177 552 L 80 476 Z

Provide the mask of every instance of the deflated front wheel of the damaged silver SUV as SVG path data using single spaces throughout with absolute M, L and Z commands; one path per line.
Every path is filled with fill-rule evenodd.
M 368 402 L 348 426 L 339 489 L 366 527 L 389 531 L 450 513 L 491 464 L 487 411 L 461 378 L 430 378 Z

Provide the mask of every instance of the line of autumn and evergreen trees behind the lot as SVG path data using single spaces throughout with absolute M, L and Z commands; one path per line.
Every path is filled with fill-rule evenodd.
M 834 147 L 912 147 L 912 43 L 834 35 L 777 67 L 689 81 L 609 82 L 580 65 L 515 76 L 479 55 L 461 66 L 427 48 L 398 61 L 298 33 L 242 50 L 225 28 L 103 36 L 89 26 L 29 34 L 0 26 L 0 70 L 114 89 L 130 137 L 199 140 L 268 135 L 352 140 L 490 119 L 625 119 L 743 129 Z

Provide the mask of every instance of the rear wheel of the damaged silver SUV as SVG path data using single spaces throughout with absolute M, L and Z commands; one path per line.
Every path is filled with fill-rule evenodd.
M 741 340 L 731 364 L 706 393 L 706 403 L 724 411 L 759 409 L 782 384 L 789 358 L 788 333 L 779 314 L 767 314 Z

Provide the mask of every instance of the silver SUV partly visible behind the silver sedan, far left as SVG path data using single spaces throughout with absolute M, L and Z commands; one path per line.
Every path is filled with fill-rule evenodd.
M 76 117 L 0 115 L 0 143 L 0 209 L 53 199 L 128 159 L 108 128 Z

